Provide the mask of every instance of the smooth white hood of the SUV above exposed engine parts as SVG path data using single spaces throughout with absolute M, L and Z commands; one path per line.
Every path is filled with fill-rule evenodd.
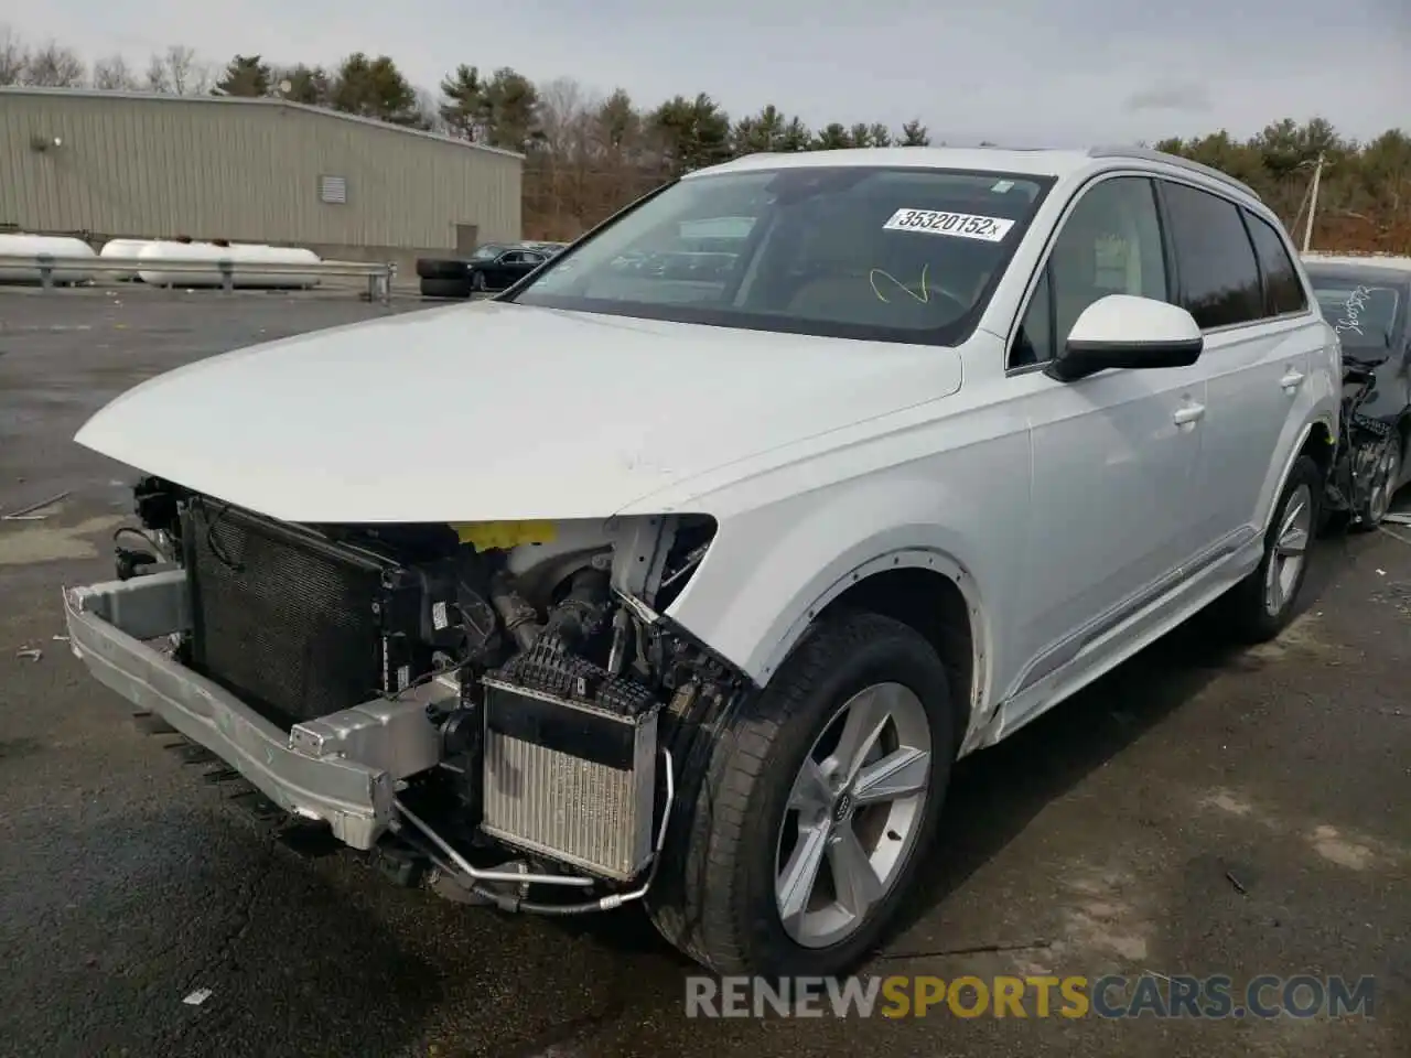
M 948 348 L 480 302 L 196 361 L 76 440 L 293 522 L 605 518 L 959 384 Z

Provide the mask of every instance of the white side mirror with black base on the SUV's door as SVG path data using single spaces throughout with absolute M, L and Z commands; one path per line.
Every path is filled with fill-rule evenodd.
M 1199 324 L 1181 306 L 1109 293 L 1082 310 L 1044 374 L 1074 382 L 1108 368 L 1188 367 L 1204 348 Z

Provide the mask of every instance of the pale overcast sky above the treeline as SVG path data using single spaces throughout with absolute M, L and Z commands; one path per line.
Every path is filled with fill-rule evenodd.
M 461 62 L 514 66 L 639 104 L 707 92 L 735 117 L 920 117 L 933 141 L 1245 135 L 1315 114 L 1411 130 L 1411 0 L 0 0 L 0 23 L 89 59 L 385 52 L 422 87 Z

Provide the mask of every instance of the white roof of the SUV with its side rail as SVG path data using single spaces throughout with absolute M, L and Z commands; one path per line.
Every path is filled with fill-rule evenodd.
M 758 169 L 809 169 L 816 166 L 971 169 L 1023 176 L 1048 176 L 1058 181 L 1081 179 L 1112 168 L 1139 168 L 1149 172 L 1180 172 L 1236 190 L 1263 203 L 1247 183 L 1180 155 L 1150 147 L 849 147 L 835 151 L 748 154 L 720 165 L 687 174 L 684 179 L 722 172 Z

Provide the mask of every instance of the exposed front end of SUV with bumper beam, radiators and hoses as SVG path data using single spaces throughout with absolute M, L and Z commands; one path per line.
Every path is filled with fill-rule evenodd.
M 645 894 L 679 769 L 748 686 L 663 616 L 710 518 L 292 525 L 157 478 L 137 512 L 119 580 L 65 591 L 102 683 L 470 899 Z

